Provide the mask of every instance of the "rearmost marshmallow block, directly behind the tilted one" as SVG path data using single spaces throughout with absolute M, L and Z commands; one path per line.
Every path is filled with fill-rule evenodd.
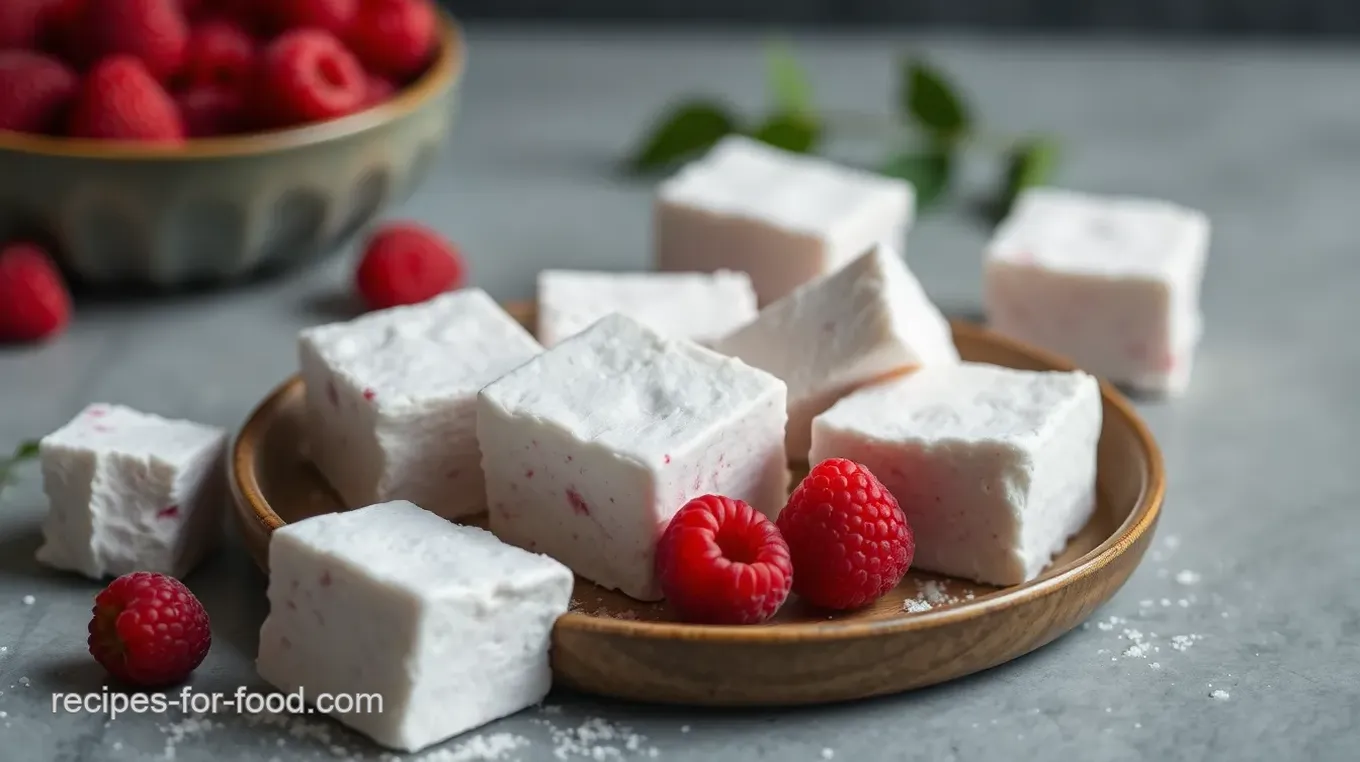
M 728 137 L 657 190 L 658 269 L 736 269 L 762 305 L 834 272 L 874 245 L 900 248 L 911 184 Z

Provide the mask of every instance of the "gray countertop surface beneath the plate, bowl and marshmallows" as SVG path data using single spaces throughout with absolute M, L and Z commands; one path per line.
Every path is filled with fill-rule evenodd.
M 400 214 L 457 239 L 475 282 L 498 298 L 529 297 L 544 265 L 645 267 L 649 188 L 612 177 L 611 162 L 677 93 L 762 102 L 752 35 L 473 29 L 471 45 L 453 144 Z M 1085 627 L 949 684 L 779 712 L 554 694 L 547 709 L 454 740 L 435 759 L 498 750 L 526 762 L 1360 752 L 1360 488 L 1341 468 L 1355 464 L 1360 429 L 1360 308 L 1350 301 L 1360 290 L 1360 107 L 1342 95 L 1360 82 L 1360 53 L 800 41 L 821 99 L 847 110 L 887 109 L 904 48 L 932 52 L 996 127 L 1062 133 L 1066 185 L 1166 196 L 1213 219 L 1194 384 L 1185 399 L 1140 404 L 1170 476 L 1153 551 Z M 979 308 L 985 235 L 953 211 L 926 216 L 911 235 L 913 267 L 957 314 Z M 92 400 L 238 426 L 292 371 L 294 332 L 344 314 L 350 256 L 230 291 L 82 301 L 58 342 L 0 350 L 0 448 Z M 320 720 L 54 713 L 53 693 L 101 690 L 84 649 L 98 586 L 35 565 L 44 509 L 38 469 L 23 467 L 0 497 L 0 762 L 381 754 Z M 216 635 L 194 690 L 262 690 L 253 656 L 264 577 L 228 546 L 189 584 Z M 1145 656 L 1125 655 L 1136 642 L 1151 644 Z

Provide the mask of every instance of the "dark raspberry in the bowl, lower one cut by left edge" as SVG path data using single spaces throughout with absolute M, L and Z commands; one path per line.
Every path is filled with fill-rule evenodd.
M 29 50 L 0 50 L 0 131 L 50 132 L 79 79 L 61 61 Z

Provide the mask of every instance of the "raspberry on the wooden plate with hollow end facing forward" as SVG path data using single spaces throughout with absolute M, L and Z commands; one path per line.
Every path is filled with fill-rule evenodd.
M 789 597 L 793 562 L 779 529 L 756 509 L 703 495 L 687 502 L 661 535 L 657 577 L 685 622 L 756 625 Z

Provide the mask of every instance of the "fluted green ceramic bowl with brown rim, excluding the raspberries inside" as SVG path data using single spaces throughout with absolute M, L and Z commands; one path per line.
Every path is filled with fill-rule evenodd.
M 443 16 L 430 71 L 340 120 L 171 150 L 0 132 L 0 239 L 46 241 L 97 286 L 222 283 L 328 253 L 422 182 L 462 67 Z

